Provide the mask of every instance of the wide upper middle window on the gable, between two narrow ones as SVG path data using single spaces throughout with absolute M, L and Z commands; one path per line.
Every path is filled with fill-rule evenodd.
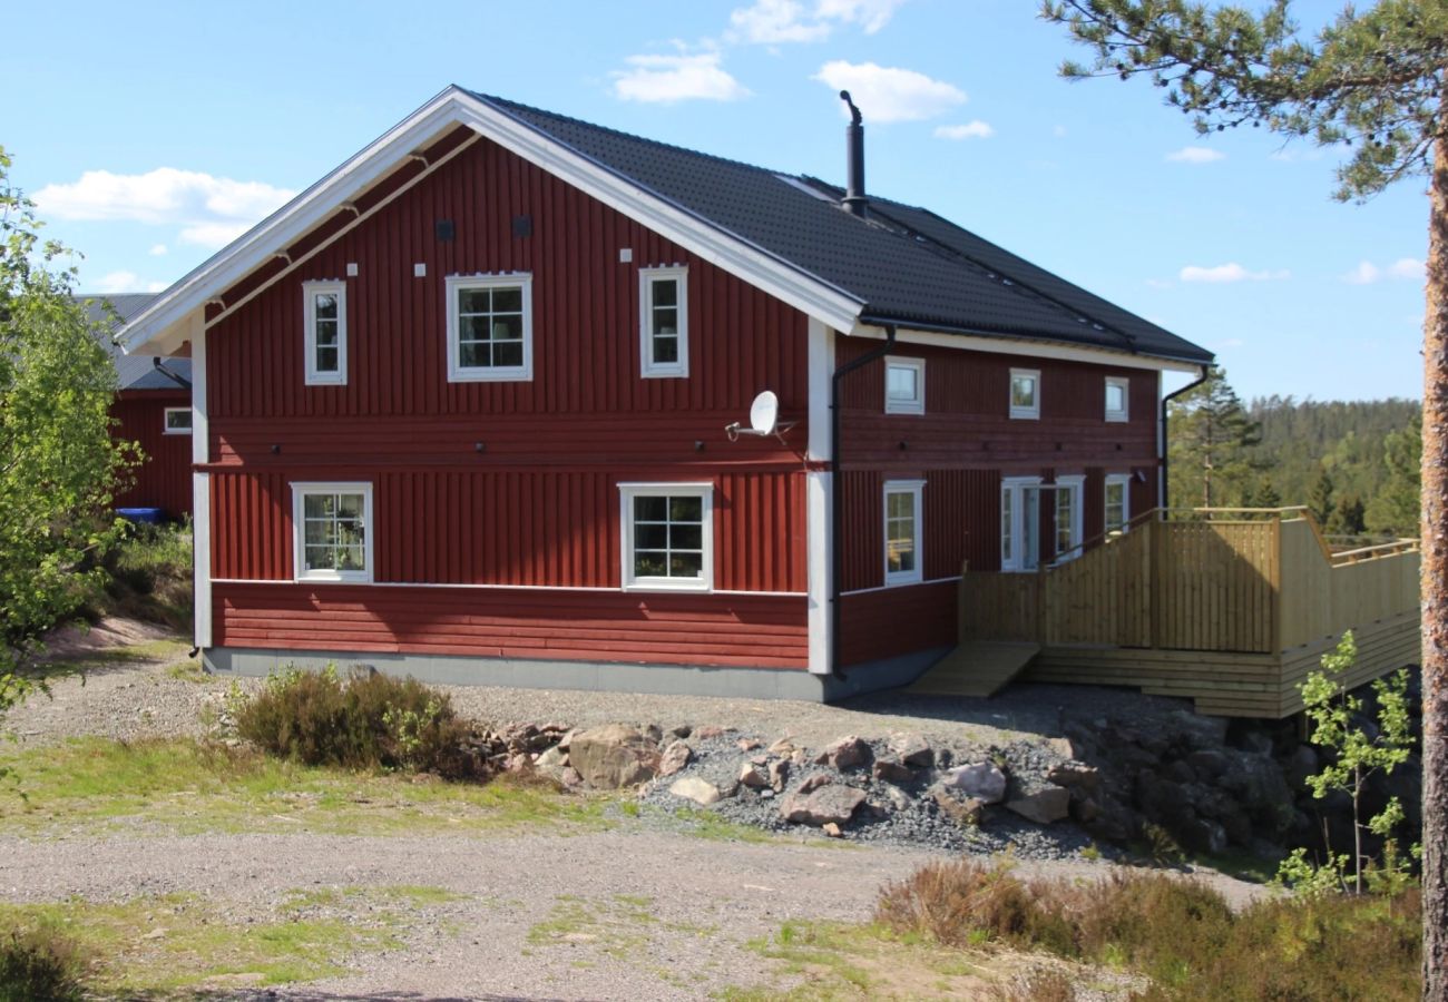
M 533 275 L 449 275 L 447 381 L 533 378 Z

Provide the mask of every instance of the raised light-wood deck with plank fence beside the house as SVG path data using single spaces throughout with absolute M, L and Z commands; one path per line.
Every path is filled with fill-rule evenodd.
M 1297 686 L 1347 630 L 1354 683 L 1419 660 L 1416 542 L 1335 553 L 1296 508 L 1163 514 L 1037 573 L 967 568 L 961 650 L 1034 643 L 1028 681 L 1129 685 L 1271 718 L 1302 710 Z

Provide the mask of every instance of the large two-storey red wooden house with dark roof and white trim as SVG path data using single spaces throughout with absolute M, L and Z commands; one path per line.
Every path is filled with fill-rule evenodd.
M 833 698 L 954 643 L 963 559 L 1154 507 L 1211 353 L 851 149 L 841 191 L 450 87 L 156 297 L 207 665 Z

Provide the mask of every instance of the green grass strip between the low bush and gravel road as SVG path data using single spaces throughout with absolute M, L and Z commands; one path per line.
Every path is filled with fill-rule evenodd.
M 0 788 L 0 831 L 473 835 L 527 827 L 568 834 L 610 827 L 598 798 L 501 778 L 487 786 L 298 766 L 188 740 L 81 738 L 0 749 L 16 782 Z

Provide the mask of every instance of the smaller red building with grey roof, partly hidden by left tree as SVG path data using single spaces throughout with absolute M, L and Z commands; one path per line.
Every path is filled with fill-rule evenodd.
M 83 295 L 93 323 L 140 313 L 153 298 L 148 292 Z M 107 314 L 106 304 L 111 313 Z M 168 518 L 191 514 L 191 362 L 184 358 L 126 355 L 110 340 L 116 363 L 116 418 L 113 434 L 136 442 L 145 453 L 132 471 L 132 484 L 116 498 L 117 508 L 159 508 Z

